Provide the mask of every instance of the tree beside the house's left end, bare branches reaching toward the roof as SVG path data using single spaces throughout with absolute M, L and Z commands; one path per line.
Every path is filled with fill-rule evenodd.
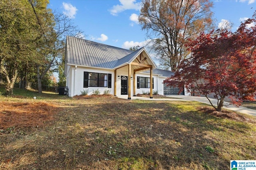
M 42 79 L 50 68 L 58 65 L 65 47 L 66 35 L 81 35 L 81 31 L 64 14 L 52 12 L 46 9 L 46 5 L 29 1 L 34 9 L 37 23 L 40 25 L 41 35 L 37 41 L 37 60 L 34 64 L 37 72 L 38 92 L 42 93 Z

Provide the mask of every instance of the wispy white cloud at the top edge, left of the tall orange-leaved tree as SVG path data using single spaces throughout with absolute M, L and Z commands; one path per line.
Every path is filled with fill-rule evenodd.
M 119 0 L 119 2 L 120 5 L 114 5 L 109 10 L 113 16 L 117 16 L 118 13 L 125 10 L 140 10 L 141 8 L 141 3 L 136 3 L 136 0 Z

